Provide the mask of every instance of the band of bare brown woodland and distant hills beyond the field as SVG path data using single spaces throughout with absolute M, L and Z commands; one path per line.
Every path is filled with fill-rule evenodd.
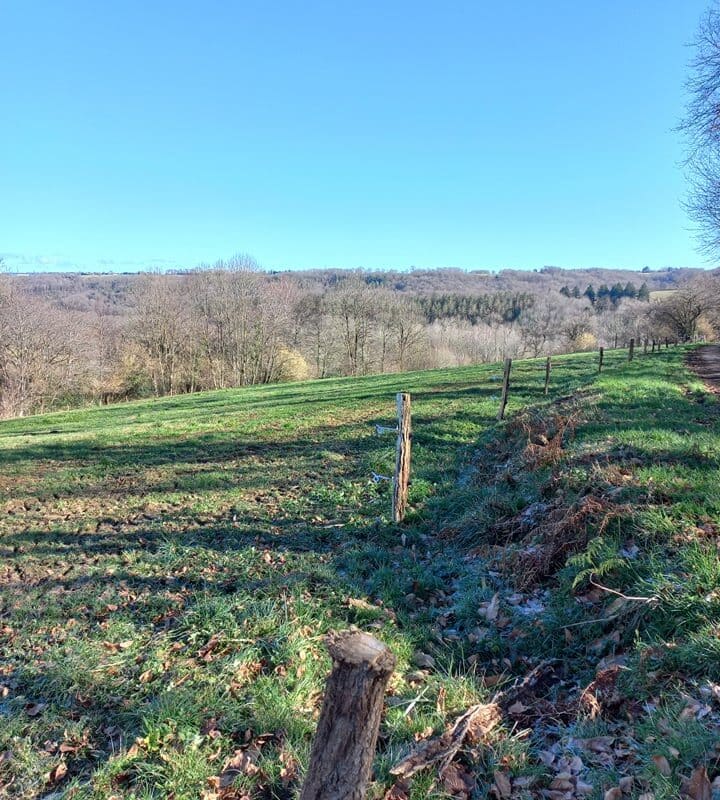
M 162 274 L 5 272 L 0 415 L 711 336 L 719 282 L 691 269 L 267 272 L 243 255 Z

